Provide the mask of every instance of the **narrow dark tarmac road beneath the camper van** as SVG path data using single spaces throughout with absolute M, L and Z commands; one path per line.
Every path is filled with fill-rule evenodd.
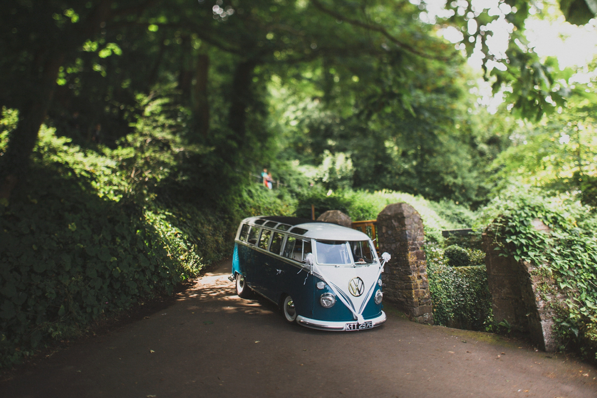
M 368 331 L 287 325 L 266 300 L 237 297 L 229 271 L 225 261 L 165 310 L 24 368 L 0 397 L 597 397 L 593 366 L 387 305 Z

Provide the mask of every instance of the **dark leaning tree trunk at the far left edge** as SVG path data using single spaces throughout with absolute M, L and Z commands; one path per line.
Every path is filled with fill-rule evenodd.
M 48 51 L 48 58 L 37 83 L 38 90 L 19 109 L 19 123 L 8 137 L 8 150 L 0 163 L 0 200 L 8 200 L 17 182 L 27 175 L 29 156 L 50 107 L 63 58 L 63 54 Z

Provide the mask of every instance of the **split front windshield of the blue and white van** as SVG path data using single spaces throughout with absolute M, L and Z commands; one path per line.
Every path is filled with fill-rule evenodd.
M 316 240 L 318 264 L 350 265 L 376 262 L 374 248 L 368 240 L 346 242 L 343 240 Z

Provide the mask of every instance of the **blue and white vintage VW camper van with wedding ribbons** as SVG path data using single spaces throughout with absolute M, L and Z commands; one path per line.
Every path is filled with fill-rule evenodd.
M 386 321 L 380 262 L 371 239 L 337 224 L 295 217 L 250 217 L 236 232 L 232 274 L 236 293 L 257 292 L 288 322 L 354 331 Z

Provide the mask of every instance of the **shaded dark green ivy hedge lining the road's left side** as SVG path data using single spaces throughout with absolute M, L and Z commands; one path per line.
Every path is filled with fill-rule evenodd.
M 67 174 L 34 166 L 36 194 L 16 190 L 0 206 L 1 365 L 190 276 L 143 212 Z

